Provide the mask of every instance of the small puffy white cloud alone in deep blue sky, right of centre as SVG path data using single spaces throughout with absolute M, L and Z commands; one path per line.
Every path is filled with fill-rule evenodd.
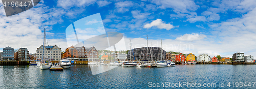
M 167 24 L 163 23 L 162 19 L 157 19 L 157 20 L 152 21 L 151 23 L 147 23 L 144 25 L 143 28 L 150 28 L 152 26 L 157 26 L 160 29 L 164 28 L 166 30 L 174 28 L 174 26 L 170 23 L 167 23 Z

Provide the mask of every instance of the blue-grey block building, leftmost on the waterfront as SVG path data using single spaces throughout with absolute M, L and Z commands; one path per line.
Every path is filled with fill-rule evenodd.
M 6 60 L 6 61 L 10 61 L 10 60 L 14 60 L 14 48 L 11 48 L 11 47 L 6 47 L 6 48 L 3 48 L 3 60 Z

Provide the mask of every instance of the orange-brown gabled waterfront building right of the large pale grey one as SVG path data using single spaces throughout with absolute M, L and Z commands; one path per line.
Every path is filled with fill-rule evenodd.
M 68 47 L 63 52 L 63 58 L 67 58 L 73 61 L 87 61 L 87 52 L 84 46 L 74 47 L 73 45 Z

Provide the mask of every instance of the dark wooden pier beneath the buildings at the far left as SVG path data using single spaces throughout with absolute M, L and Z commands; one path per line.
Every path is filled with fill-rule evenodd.
M 29 61 L 0 61 L 0 66 L 30 65 Z

